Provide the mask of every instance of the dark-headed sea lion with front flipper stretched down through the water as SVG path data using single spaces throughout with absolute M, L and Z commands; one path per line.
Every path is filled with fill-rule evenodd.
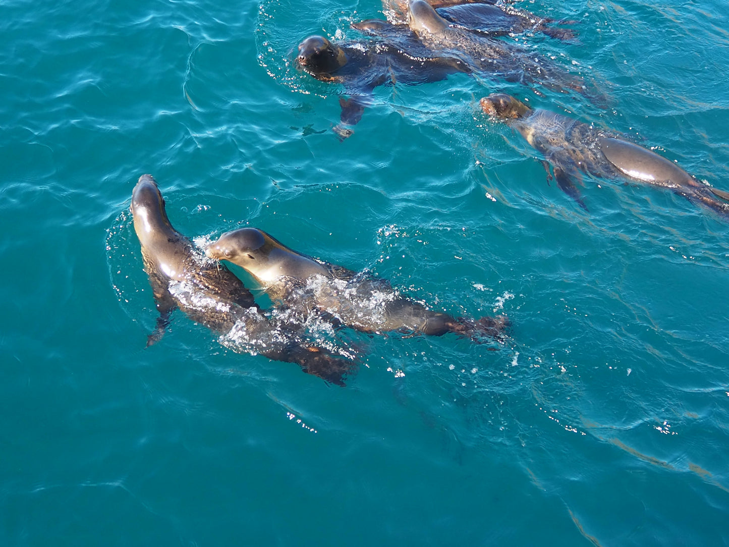
M 297 65 L 323 82 L 342 84 L 349 96 L 339 100 L 341 124 L 335 131 L 342 139 L 351 135 L 351 128 L 346 126 L 359 122 L 378 85 L 436 82 L 453 72 L 469 71 L 461 61 L 432 55 L 415 40 L 408 45 L 403 50 L 402 44 L 398 47 L 373 40 L 334 43 L 324 36 L 309 36 L 299 44 Z M 405 53 L 415 47 L 420 49 Z

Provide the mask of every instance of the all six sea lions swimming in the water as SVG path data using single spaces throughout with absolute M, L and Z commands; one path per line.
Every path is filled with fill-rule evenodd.
M 491 0 L 383 0 L 383 13 L 386 20 L 351 24 L 362 39 L 335 42 L 315 35 L 297 47 L 295 63 L 300 69 L 343 86 L 347 98 L 340 98 L 340 124 L 335 127 L 341 140 L 351 136 L 378 85 L 424 84 L 458 72 L 519 82 L 537 95 L 532 86 L 578 93 L 597 104 L 605 100 L 549 58 L 500 39 L 524 31 L 573 39 L 574 32 L 563 22 Z M 531 108 L 504 93 L 482 98 L 480 106 L 492 119 L 521 133 L 541 155 L 547 179 L 554 178 L 585 210 L 577 185 L 588 175 L 668 188 L 729 216 L 729 193 L 699 182 L 620 133 Z M 130 210 L 160 312 L 148 346 L 162 338 L 171 313 L 180 309 L 236 352 L 295 362 L 307 373 L 343 385 L 356 371 L 356 352 L 309 341 L 312 317 L 330 324 L 334 332 L 351 328 L 364 333 L 453 333 L 476 343 L 501 341 L 510 326 L 503 315 L 475 319 L 433 311 L 400 295 L 384 279 L 303 255 L 257 228 L 223 233 L 200 249 L 171 225 L 151 175 L 139 178 Z M 252 276 L 275 309 L 291 313 L 262 310 L 225 261 Z

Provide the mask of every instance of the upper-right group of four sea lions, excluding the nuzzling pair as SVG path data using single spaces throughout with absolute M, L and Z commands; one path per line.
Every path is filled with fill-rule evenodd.
M 367 96 L 377 85 L 432 82 L 455 72 L 518 82 L 542 96 L 539 88 L 574 92 L 604 106 L 607 98 L 582 77 L 532 50 L 499 39 L 507 33 L 524 31 L 558 39 L 574 38 L 571 29 L 559 26 L 572 22 L 540 18 L 512 4 L 491 0 L 383 0 L 387 20 L 351 23 L 352 28 L 375 38 L 354 42 L 358 55 L 344 53 L 343 48 L 351 45 L 311 36 L 300 44 L 296 62 L 317 79 L 343 84 L 344 93 L 351 96 L 340 98 L 341 123 L 335 131 L 342 138 L 351 136 L 351 126 L 362 117 Z M 311 47 L 312 43 L 319 47 Z M 332 61 L 314 61 L 320 52 L 326 52 Z M 370 56 L 377 62 L 362 61 Z M 381 70 L 375 70 L 375 64 Z M 400 74 L 406 77 L 398 79 Z M 483 112 L 506 121 L 542 154 L 547 179 L 556 179 L 558 187 L 585 210 L 588 207 L 576 182 L 581 181 L 582 174 L 590 174 L 668 188 L 720 214 L 729 214 L 729 193 L 697 181 L 679 166 L 620 133 L 546 109 L 532 109 L 501 93 L 484 97 L 480 104 Z

